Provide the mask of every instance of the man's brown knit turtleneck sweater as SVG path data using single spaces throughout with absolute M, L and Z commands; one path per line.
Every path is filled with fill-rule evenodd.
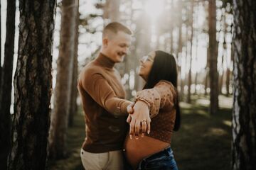
M 82 148 L 102 153 L 122 149 L 128 124 L 125 91 L 114 62 L 100 55 L 82 69 L 78 90 L 85 113 L 86 138 Z

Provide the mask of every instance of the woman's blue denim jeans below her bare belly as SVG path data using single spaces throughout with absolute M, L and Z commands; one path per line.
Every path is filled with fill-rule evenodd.
M 127 164 L 124 165 L 126 170 L 132 170 L 132 167 Z M 139 162 L 137 170 L 178 170 L 178 166 L 174 159 L 173 151 L 171 147 L 168 147 L 156 154 L 152 154 L 149 157 L 142 159 Z

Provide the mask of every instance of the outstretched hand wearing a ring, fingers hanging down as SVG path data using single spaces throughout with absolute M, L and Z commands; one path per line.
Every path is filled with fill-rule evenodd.
M 147 130 L 150 132 L 150 122 L 149 117 L 149 106 L 144 101 L 137 101 L 133 107 L 133 113 L 129 114 L 127 122 L 130 124 L 129 135 L 130 138 L 135 135 L 135 138 L 139 139 L 139 130 L 142 129 L 142 137 Z

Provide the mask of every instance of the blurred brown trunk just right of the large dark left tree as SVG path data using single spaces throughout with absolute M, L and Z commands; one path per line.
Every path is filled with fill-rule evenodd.
M 65 142 L 72 89 L 77 5 L 78 0 L 63 0 L 61 6 L 60 52 L 49 137 L 49 152 L 53 159 L 61 159 L 67 155 Z

